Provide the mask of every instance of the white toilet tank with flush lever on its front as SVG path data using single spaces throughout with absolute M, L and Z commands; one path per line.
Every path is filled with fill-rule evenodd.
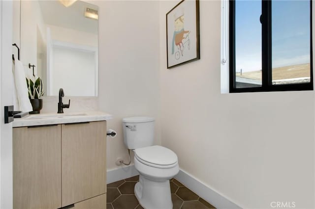
M 124 143 L 129 150 L 153 145 L 154 122 L 151 117 L 123 119 Z

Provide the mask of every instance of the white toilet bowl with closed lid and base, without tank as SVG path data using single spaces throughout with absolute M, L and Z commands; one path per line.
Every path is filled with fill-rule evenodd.
M 162 146 L 134 150 L 134 165 L 139 172 L 139 182 L 134 193 L 145 209 L 172 209 L 169 180 L 178 172 L 176 154 Z

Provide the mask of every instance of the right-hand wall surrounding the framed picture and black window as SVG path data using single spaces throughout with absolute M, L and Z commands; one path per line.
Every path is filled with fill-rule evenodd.
M 161 142 L 180 168 L 242 208 L 314 208 L 314 91 L 221 94 L 221 1 L 200 2 L 198 61 L 166 69 L 160 1 Z

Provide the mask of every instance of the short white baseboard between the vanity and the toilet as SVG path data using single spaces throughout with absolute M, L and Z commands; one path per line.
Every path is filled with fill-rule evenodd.
M 106 183 L 117 182 L 122 179 L 133 177 L 139 175 L 138 171 L 134 165 L 129 165 L 126 167 L 121 167 L 113 170 L 107 171 Z

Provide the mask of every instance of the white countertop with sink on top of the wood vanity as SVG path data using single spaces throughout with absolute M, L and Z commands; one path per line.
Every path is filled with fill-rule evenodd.
M 112 115 L 106 112 L 90 110 L 71 113 L 41 113 L 30 114 L 23 118 L 14 118 L 13 127 L 107 121 L 110 119 L 112 119 Z

